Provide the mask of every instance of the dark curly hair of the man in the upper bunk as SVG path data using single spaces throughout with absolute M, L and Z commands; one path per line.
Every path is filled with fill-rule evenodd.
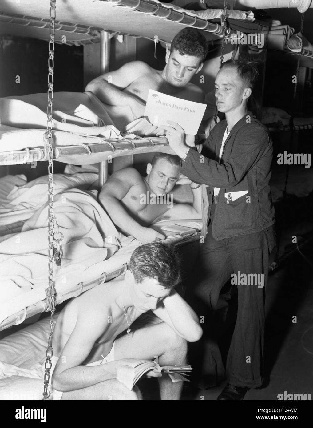
M 172 43 L 171 51 L 176 49 L 180 55 L 191 55 L 198 56 L 201 58 L 201 62 L 207 56 L 208 43 L 200 31 L 195 28 L 183 28 L 179 33 L 176 34 Z

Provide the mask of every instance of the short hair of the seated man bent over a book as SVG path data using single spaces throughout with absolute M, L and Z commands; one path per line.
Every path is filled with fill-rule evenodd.
M 130 257 L 135 281 L 157 278 L 163 288 L 173 288 L 181 281 L 180 258 L 172 244 L 150 242 L 140 245 Z

